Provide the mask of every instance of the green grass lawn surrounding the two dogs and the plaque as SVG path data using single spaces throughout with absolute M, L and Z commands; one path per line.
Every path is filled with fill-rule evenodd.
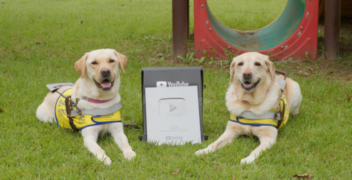
M 240 165 L 239 161 L 258 146 L 256 137 L 241 136 L 215 153 L 196 157 L 194 152 L 214 142 L 229 119 L 224 102 L 229 72 L 214 64 L 204 70 L 203 124 L 208 141 L 156 146 L 138 140 L 142 130 L 125 128 L 136 158 L 125 160 L 113 138 L 106 136 L 98 143 L 113 163 L 104 166 L 83 146 L 79 134 L 37 120 L 35 111 L 48 93 L 45 84 L 75 82 L 80 75 L 73 64 L 85 52 L 114 48 L 128 57 L 120 87 L 123 121 L 142 127 L 140 68 L 174 65 L 170 63 L 171 1 L 3 2 L 1 179 L 292 179 L 304 173 L 312 174 L 313 179 L 352 176 L 352 84 L 320 73 L 292 76 L 302 89 L 300 113 L 289 119 L 279 132 L 277 144 L 254 164 Z M 192 22 L 193 18 L 191 29 Z M 172 175 L 177 168 L 181 172 Z

